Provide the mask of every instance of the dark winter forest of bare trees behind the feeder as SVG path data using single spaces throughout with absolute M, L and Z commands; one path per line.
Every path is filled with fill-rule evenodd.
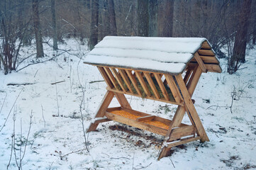
M 248 42 L 256 41 L 256 1 L 252 0 L 1 0 L 0 65 L 16 69 L 19 49 L 43 38 L 52 48 L 65 38 L 79 38 L 93 49 L 106 35 L 205 37 L 218 57 L 228 49 L 228 72 L 245 62 Z M 17 45 L 18 43 L 18 45 Z

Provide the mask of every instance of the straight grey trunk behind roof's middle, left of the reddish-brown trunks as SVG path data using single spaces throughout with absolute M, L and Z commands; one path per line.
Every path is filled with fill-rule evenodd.
M 148 37 L 148 0 L 138 0 L 138 35 Z

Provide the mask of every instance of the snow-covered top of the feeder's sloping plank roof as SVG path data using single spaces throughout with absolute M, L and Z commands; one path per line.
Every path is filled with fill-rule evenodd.
M 107 36 L 89 52 L 84 63 L 179 74 L 203 42 L 208 41 L 206 38 Z

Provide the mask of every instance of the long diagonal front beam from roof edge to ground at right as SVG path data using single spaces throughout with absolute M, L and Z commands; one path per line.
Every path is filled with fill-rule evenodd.
M 191 118 L 193 118 L 194 120 L 194 124 L 196 125 L 196 130 L 198 130 L 199 132 L 201 141 L 209 141 L 208 136 L 206 135 L 206 131 L 204 130 L 204 126 L 202 125 L 199 115 L 196 112 L 196 108 L 194 107 L 193 101 L 191 100 L 191 95 L 189 94 L 189 91 L 187 90 L 187 87 L 184 84 L 182 75 L 178 75 L 175 77 L 177 79 L 177 83 L 179 84 L 179 88 L 182 91 L 184 102 L 189 110 L 189 113 L 191 114 Z

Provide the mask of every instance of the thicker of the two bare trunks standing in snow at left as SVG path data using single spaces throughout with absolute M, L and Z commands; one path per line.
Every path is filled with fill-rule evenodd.
M 40 30 L 38 4 L 39 4 L 38 0 L 32 1 L 33 23 L 34 23 L 34 31 L 35 31 L 35 42 L 36 42 L 36 57 L 43 57 L 43 39 L 42 39 L 42 31 Z

